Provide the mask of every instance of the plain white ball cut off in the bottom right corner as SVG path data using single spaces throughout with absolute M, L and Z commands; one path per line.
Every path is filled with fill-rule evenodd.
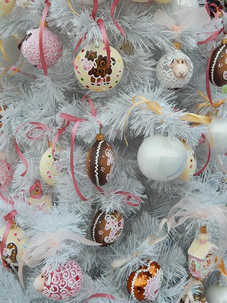
M 227 303 L 227 286 L 215 283 L 205 291 L 207 303 Z

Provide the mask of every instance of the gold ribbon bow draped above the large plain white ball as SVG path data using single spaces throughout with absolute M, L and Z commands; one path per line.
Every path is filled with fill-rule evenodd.
M 140 98 L 140 101 L 135 102 L 136 98 Z M 130 113 L 131 113 L 131 111 L 134 107 L 138 107 L 139 109 L 146 109 L 146 110 L 149 110 L 149 111 L 153 111 L 157 115 L 162 114 L 162 108 L 160 107 L 160 105 L 155 101 L 148 100 L 144 96 L 135 96 L 135 97 L 133 97 L 132 98 L 132 103 L 133 103 L 133 105 L 131 106 L 131 108 L 129 109 L 129 111 L 126 115 L 125 124 L 124 124 L 124 137 L 125 137 L 125 142 L 126 142 L 127 146 L 128 146 L 128 141 L 126 139 L 125 129 L 126 129 L 126 124 L 127 124 L 129 115 L 130 115 Z M 141 104 L 146 104 L 146 107 L 141 107 L 140 106 Z M 203 116 L 203 115 L 197 115 L 197 114 L 193 114 L 193 113 L 185 113 L 185 114 L 183 114 L 183 116 L 178 117 L 178 119 L 183 120 L 183 121 L 188 121 L 188 122 L 194 122 L 195 125 L 200 124 L 200 123 L 204 123 L 206 125 L 206 127 L 208 128 L 208 130 L 209 130 L 208 124 L 211 123 L 211 118 L 210 117 Z M 210 130 L 209 130 L 209 133 L 210 133 Z M 212 146 L 213 145 L 213 140 L 212 140 L 211 133 L 210 133 L 210 138 L 211 138 L 211 146 Z

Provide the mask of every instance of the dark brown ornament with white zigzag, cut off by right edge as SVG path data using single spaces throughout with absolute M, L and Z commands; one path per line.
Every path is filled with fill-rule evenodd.
M 209 79 L 215 86 L 227 84 L 227 39 L 214 49 L 209 65 Z

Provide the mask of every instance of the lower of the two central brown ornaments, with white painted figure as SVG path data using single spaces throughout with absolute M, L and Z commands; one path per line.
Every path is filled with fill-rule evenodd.
M 124 228 L 123 215 L 119 212 L 105 213 L 99 211 L 91 223 L 91 236 L 101 246 L 111 245 L 122 234 Z

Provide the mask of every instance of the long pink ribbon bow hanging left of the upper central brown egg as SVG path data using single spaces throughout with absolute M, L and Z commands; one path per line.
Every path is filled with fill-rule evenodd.
M 89 106 L 90 106 L 90 109 L 91 109 L 91 114 L 84 107 L 84 100 L 85 100 L 86 97 L 88 98 Z M 95 110 L 93 102 L 92 102 L 91 98 L 88 95 L 83 96 L 83 98 L 82 98 L 82 105 L 83 105 L 83 108 L 85 109 L 86 113 L 88 113 L 91 117 L 96 117 L 97 110 Z M 65 125 L 65 122 L 67 122 L 67 123 L 56 134 L 56 136 L 55 136 L 55 138 L 53 140 L 53 143 L 52 143 L 52 153 L 53 153 L 56 141 L 58 140 L 58 138 L 60 137 L 60 135 L 66 130 L 66 127 L 69 126 L 70 122 L 75 122 L 75 125 L 74 125 L 72 133 L 71 133 L 70 168 L 71 168 L 71 173 L 72 173 L 72 178 L 73 178 L 73 184 L 74 184 L 74 187 L 75 187 L 75 190 L 76 190 L 78 196 L 83 201 L 88 201 L 89 199 L 85 198 L 85 196 L 81 193 L 81 191 L 80 191 L 80 189 L 79 189 L 79 187 L 77 185 L 75 174 L 74 174 L 74 163 L 73 163 L 74 142 L 75 142 L 78 126 L 80 125 L 81 122 L 88 121 L 88 120 L 87 119 L 79 119 L 79 118 L 74 117 L 72 115 L 63 114 L 63 113 L 60 114 L 60 118 L 64 119 L 64 125 Z M 100 125 L 100 127 L 102 127 L 102 124 L 99 121 L 96 121 L 96 122 Z

